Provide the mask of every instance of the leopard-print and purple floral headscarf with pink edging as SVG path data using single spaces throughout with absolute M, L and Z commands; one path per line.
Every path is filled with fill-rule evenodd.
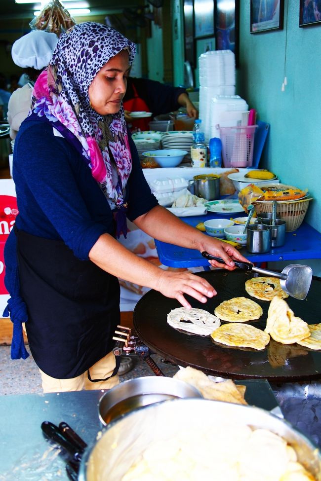
M 94 111 L 88 88 L 123 49 L 128 50 L 131 64 L 135 44 L 106 25 L 84 22 L 67 30 L 37 79 L 30 114 L 49 122 L 78 149 L 112 209 L 123 205 L 131 171 L 124 113 L 122 107 L 111 115 Z

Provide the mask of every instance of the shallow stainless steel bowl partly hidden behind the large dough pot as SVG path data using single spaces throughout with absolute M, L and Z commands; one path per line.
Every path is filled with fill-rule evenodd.
M 202 398 L 191 384 L 172 377 L 145 376 L 121 382 L 99 400 L 98 412 L 102 424 L 139 407 L 175 398 Z

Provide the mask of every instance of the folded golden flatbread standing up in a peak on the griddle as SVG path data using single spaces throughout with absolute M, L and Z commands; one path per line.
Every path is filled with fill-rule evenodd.
M 285 300 L 273 297 L 270 303 L 265 332 L 282 344 L 293 344 L 310 336 L 308 324 L 295 317 Z

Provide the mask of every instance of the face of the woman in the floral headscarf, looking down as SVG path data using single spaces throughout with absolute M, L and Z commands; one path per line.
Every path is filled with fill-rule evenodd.
M 128 59 L 128 52 L 121 50 L 100 69 L 89 85 L 90 104 L 97 113 L 107 115 L 120 110 L 130 68 Z

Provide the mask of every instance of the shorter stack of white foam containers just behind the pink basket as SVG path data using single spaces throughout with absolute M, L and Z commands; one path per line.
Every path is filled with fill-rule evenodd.
M 220 137 L 220 127 L 247 125 L 248 105 L 240 95 L 215 95 L 209 103 L 209 138 Z

